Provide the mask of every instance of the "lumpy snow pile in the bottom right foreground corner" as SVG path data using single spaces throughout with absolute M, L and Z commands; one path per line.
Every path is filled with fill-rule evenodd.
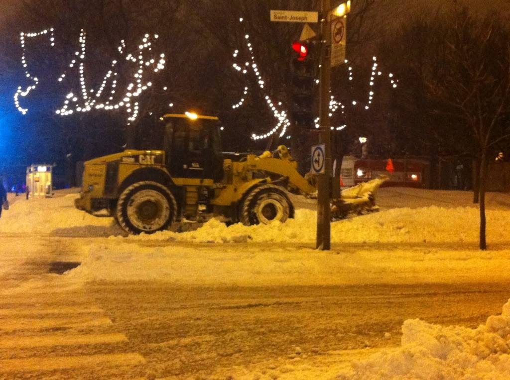
M 402 325 L 401 347 L 355 362 L 337 379 L 508 379 L 510 300 L 502 315 L 477 329 L 445 327 L 419 319 Z

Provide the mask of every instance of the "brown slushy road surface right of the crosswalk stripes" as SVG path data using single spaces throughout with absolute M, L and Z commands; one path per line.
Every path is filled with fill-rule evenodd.
M 173 287 L 91 283 L 98 305 L 158 377 L 333 378 L 399 344 L 402 322 L 477 327 L 498 285 Z M 462 305 L 462 307 L 460 307 Z

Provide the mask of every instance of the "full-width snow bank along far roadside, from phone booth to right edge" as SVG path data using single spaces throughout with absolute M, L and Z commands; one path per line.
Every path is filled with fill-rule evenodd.
M 427 199 L 435 193 L 422 191 Z M 422 194 L 422 193 L 419 193 Z M 400 197 L 417 195 L 400 194 Z M 52 234 L 67 236 L 123 235 L 113 218 L 98 218 L 74 207 L 78 194 L 60 194 L 48 199 L 18 199 L 0 219 L 0 232 L 24 234 Z M 456 199 L 456 198 L 455 198 Z M 407 203 L 410 201 L 408 200 Z M 487 211 L 488 240 L 508 243 L 506 226 L 510 207 Z M 315 241 L 316 211 L 297 209 L 295 219 L 246 227 L 235 224 L 227 227 L 211 220 L 195 231 L 158 232 L 152 235 L 129 236 L 133 240 L 172 240 L 190 242 L 292 242 Z M 118 237 L 121 239 L 122 237 Z M 476 242 L 478 239 L 478 210 L 474 207 L 394 208 L 378 213 L 331 224 L 334 243 L 378 242 Z

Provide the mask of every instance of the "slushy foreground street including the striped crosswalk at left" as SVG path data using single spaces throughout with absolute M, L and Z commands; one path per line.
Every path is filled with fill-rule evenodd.
M 2 239 L 12 249 L 17 240 Z M 501 284 L 218 287 L 48 273 L 51 262 L 83 260 L 92 242 L 108 239 L 44 237 L 22 260 L 3 256 L 6 378 L 333 378 L 398 346 L 407 318 L 474 328 L 508 297 Z

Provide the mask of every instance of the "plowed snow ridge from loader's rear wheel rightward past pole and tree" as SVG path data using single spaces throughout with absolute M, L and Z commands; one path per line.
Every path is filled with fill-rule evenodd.
M 510 210 L 488 210 L 488 239 L 508 242 L 506 223 Z M 235 224 L 227 227 L 211 220 L 196 231 L 158 232 L 152 235 L 130 236 L 133 239 L 170 239 L 198 242 L 298 242 L 315 240 L 317 213 L 296 210 L 295 219 L 286 223 L 272 223 L 246 227 Z M 418 209 L 398 208 L 355 216 L 331 224 L 331 241 L 341 242 L 476 242 L 478 239 L 478 210 L 472 207 L 444 208 L 438 206 Z

